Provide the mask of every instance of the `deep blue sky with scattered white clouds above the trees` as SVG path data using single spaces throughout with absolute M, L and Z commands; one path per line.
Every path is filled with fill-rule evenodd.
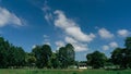
M 70 42 L 76 60 L 99 50 L 106 55 L 131 36 L 130 0 L 0 0 L 0 34 L 31 52 Z

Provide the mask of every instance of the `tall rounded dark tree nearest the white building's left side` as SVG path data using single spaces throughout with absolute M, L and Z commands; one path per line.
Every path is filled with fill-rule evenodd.
M 74 64 L 74 48 L 71 44 L 68 44 L 66 47 L 61 47 L 58 52 L 58 58 L 60 61 L 60 66 L 67 69 L 70 65 Z

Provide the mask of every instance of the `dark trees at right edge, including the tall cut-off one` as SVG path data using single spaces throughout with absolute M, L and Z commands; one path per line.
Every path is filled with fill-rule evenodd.
M 131 37 L 126 39 L 126 48 L 116 48 L 111 52 L 111 61 L 121 69 L 131 67 Z

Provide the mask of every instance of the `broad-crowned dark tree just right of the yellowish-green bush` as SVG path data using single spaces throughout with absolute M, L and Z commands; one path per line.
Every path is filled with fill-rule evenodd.
M 33 49 L 33 53 L 36 57 L 36 65 L 37 67 L 47 67 L 48 66 L 48 61 L 51 57 L 51 48 L 49 45 L 44 45 L 44 46 L 36 46 Z

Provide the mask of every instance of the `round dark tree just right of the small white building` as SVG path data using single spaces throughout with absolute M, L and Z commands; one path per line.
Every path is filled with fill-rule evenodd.
M 87 59 L 87 63 L 93 66 L 94 69 L 99 69 L 103 67 L 107 57 L 105 55 L 105 53 L 102 53 L 99 51 L 94 51 L 93 53 L 88 53 L 86 55 Z

